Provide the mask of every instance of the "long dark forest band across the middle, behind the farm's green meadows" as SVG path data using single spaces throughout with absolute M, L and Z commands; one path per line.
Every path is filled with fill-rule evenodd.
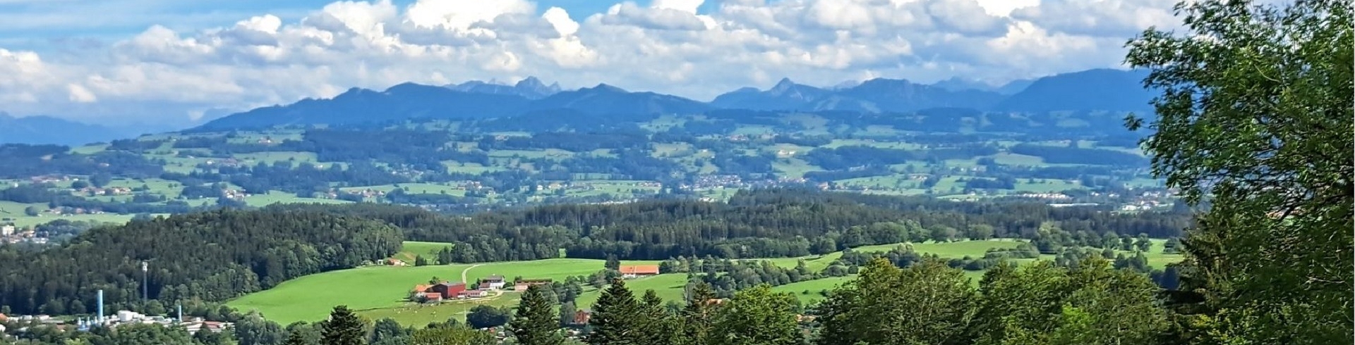
M 409 239 L 455 244 L 458 262 L 549 258 L 558 249 L 580 258 L 795 257 L 905 241 L 1035 238 L 1050 226 L 1100 244 L 1104 237 L 1179 237 L 1191 223 L 1184 212 L 1117 214 L 808 189 L 743 191 L 728 203 L 557 204 L 469 216 L 381 204 L 287 207 L 382 219 Z

